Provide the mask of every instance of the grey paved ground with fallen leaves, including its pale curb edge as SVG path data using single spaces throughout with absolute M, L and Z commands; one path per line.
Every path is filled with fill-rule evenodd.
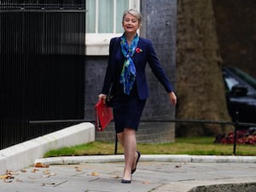
M 0 192 L 255 192 L 256 157 L 142 154 L 131 183 L 121 183 L 124 156 L 35 160 L 0 177 Z

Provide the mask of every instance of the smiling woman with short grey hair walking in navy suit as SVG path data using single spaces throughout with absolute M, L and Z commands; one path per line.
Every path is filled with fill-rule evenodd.
M 139 38 L 142 15 L 134 9 L 123 15 L 122 37 L 112 38 L 106 76 L 99 100 L 106 100 L 112 86 L 113 118 L 119 143 L 124 148 L 125 169 L 122 183 L 131 183 L 140 153 L 137 151 L 136 131 L 148 97 L 145 67 L 148 63 L 154 75 L 166 89 L 170 101 L 176 105 L 177 97 L 166 73 L 160 66 L 153 45 L 148 39 Z

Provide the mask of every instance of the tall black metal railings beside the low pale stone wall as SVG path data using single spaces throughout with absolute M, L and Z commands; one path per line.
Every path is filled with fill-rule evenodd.
M 0 0 L 0 149 L 83 119 L 83 0 Z

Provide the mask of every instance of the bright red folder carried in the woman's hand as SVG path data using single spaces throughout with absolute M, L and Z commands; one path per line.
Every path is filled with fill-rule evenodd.
M 96 108 L 96 129 L 98 131 L 104 131 L 110 121 L 113 119 L 113 112 L 111 108 L 108 108 L 103 100 L 99 101 L 95 105 Z

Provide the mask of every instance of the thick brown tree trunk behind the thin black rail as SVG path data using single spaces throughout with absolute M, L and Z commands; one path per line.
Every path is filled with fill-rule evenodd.
M 230 120 L 212 0 L 178 0 L 177 119 Z M 216 136 L 230 126 L 177 123 L 177 137 Z

